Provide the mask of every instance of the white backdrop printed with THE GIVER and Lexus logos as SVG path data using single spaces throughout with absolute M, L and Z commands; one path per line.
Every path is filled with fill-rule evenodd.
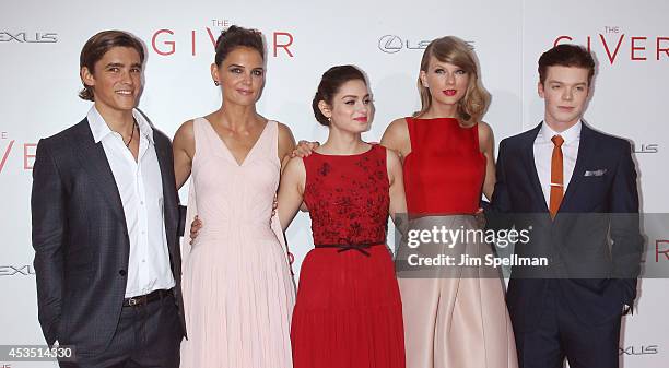
M 183 121 L 220 105 L 209 67 L 221 29 L 238 24 L 262 31 L 268 73 L 258 110 L 289 124 L 297 139 L 321 142 L 327 130 L 315 121 L 310 102 L 331 66 L 353 63 L 368 73 L 377 112 L 365 136 L 377 141 L 389 121 L 419 108 L 415 80 L 422 49 L 433 38 L 457 35 L 480 59 L 483 84 L 493 96 L 485 121 L 498 141 L 542 118 L 539 55 L 556 43 L 586 45 L 599 61 L 586 119 L 634 142 L 643 211 L 669 212 L 666 0 L 7 0 L 1 8 L 0 345 L 44 342 L 32 268 L 31 168 L 39 138 L 85 116 L 90 104 L 77 97 L 79 54 L 102 29 L 129 31 L 146 44 L 140 108 L 168 135 Z M 661 253 L 669 249 L 669 228 L 656 226 L 647 236 L 653 252 L 646 261 L 669 266 Z M 298 215 L 287 238 L 298 273 L 312 247 L 308 216 Z M 621 341 L 625 368 L 667 366 L 668 285 L 666 280 L 641 283 L 638 306 L 625 318 Z M 36 366 L 0 359 L 0 368 Z

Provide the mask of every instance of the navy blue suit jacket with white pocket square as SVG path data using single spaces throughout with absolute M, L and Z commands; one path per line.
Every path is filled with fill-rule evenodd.
M 548 278 L 560 278 L 559 297 L 582 323 L 606 323 L 620 317 L 623 304 L 632 306 L 641 269 L 643 238 L 631 145 L 584 123 L 574 174 L 553 221 L 535 167 L 540 128 L 500 143 L 489 212 L 492 218 L 500 215 L 493 227 L 531 225 L 530 242 L 517 245 L 516 253 L 550 260 L 549 268 L 537 273 L 512 269 L 507 306 L 514 330 L 537 327 Z

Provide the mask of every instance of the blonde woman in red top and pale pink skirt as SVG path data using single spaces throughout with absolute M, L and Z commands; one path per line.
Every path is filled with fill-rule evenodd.
M 412 228 L 477 230 L 481 193 L 495 185 L 493 133 L 481 121 L 489 94 L 473 51 L 456 37 L 433 40 L 418 79 L 422 107 L 390 123 L 382 144 L 403 159 Z M 468 241 L 469 240 L 469 241 Z M 424 254 L 483 258 L 491 247 L 477 239 L 424 245 Z M 404 249 L 407 250 L 407 249 Z M 399 263 L 414 250 L 402 253 Z M 407 265 L 407 264 L 404 264 Z M 517 367 L 504 288 L 485 266 L 398 270 L 404 318 L 407 366 L 412 368 Z

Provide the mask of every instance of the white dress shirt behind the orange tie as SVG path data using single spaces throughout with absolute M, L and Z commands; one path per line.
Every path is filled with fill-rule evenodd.
M 539 130 L 539 134 L 537 134 L 537 139 L 535 139 L 535 167 L 537 168 L 537 175 L 539 176 L 539 182 L 541 182 L 541 190 L 543 191 L 543 198 L 548 206 L 550 206 L 551 203 L 551 161 L 553 157 L 553 147 L 555 146 L 551 139 L 554 135 L 561 135 L 562 139 L 564 139 L 564 143 L 562 143 L 562 169 L 564 179 L 563 193 L 566 193 L 570 181 L 572 180 L 572 174 L 574 173 L 574 166 L 576 166 L 576 157 L 578 156 L 582 124 L 583 122 L 578 121 L 572 128 L 562 133 L 558 133 L 544 121 L 541 123 L 541 129 Z

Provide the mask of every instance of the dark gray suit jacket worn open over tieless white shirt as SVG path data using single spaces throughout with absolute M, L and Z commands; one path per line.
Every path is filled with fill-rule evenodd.
M 165 233 L 184 331 L 172 144 L 153 130 Z M 31 198 L 39 323 L 49 345 L 104 351 L 122 307 L 130 241 L 111 168 L 87 119 L 39 141 Z

